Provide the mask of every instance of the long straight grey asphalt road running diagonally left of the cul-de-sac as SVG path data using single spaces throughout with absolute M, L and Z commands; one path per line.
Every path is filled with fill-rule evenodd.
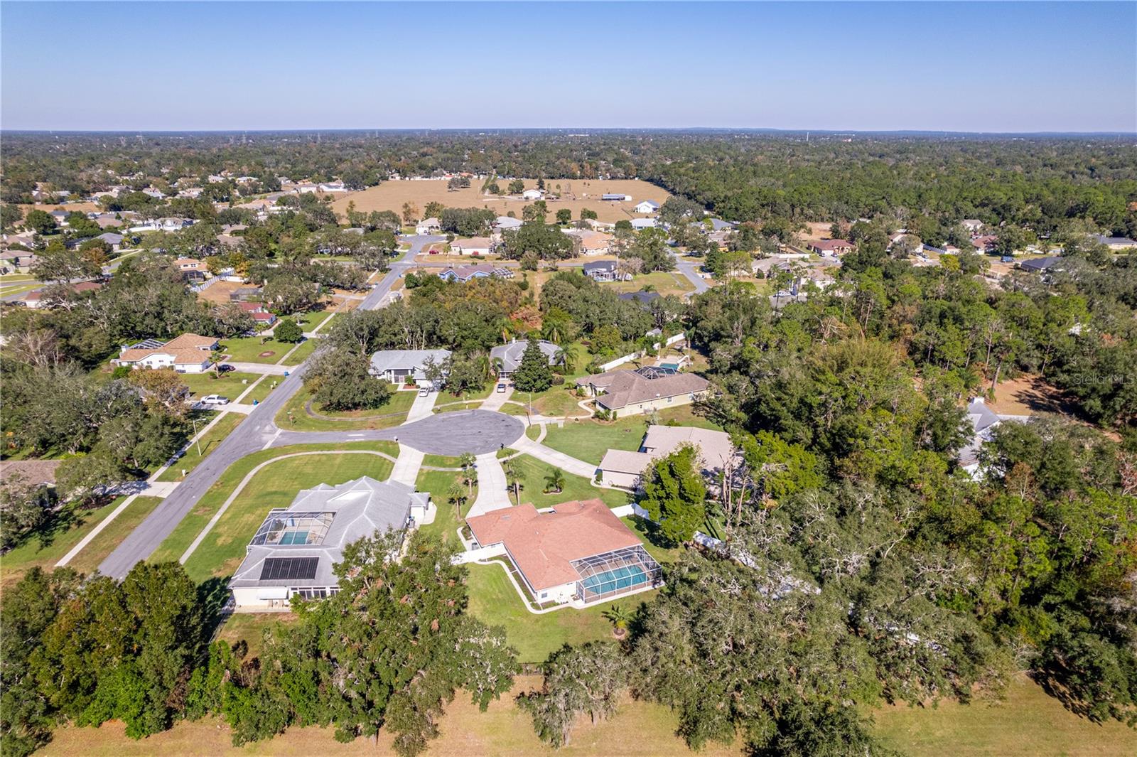
M 402 273 L 412 267 L 415 255 L 429 242 L 443 240 L 443 236 L 409 236 L 404 241 L 410 242 L 410 250 L 404 253 L 398 260 L 391 264 L 391 271 L 380 281 L 374 289 L 364 298 L 360 307 L 376 308 L 383 298 L 391 291 L 391 286 L 399 280 Z M 310 360 L 312 358 L 309 358 Z M 209 490 L 221 474 L 233 463 L 268 446 L 274 446 L 277 436 L 284 434 L 274 423 L 276 413 L 296 394 L 304 385 L 304 372 L 308 361 L 297 366 L 290 375 L 274 389 L 265 401 L 260 402 L 241 424 L 218 444 L 213 452 L 174 489 L 169 497 L 150 513 L 142 523 L 123 540 L 107 559 L 99 566 L 99 572 L 121 579 L 134 566 L 135 563 L 144 560 L 158 546 L 173 533 L 177 524 L 182 522 L 202 494 Z M 296 432 L 289 432 L 290 434 Z M 307 434 L 305 441 L 357 441 L 351 436 L 357 432 L 329 432 L 327 434 Z M 312 436 L 330 436 L 329 439 L 313 439 Z M 275 446 L 280 446 L 276 443 Z

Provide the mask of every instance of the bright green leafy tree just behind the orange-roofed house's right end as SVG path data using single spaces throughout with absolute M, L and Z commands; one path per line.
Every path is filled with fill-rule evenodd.
M 639 504 L 659 524 L 659 535 L 667 544 L 681 544 L 690 541 L 706 518 L 706 496 L 698 449 L 684 444 L 652 461 Z

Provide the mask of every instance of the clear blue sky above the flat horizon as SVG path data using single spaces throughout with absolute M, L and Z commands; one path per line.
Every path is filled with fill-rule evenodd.
M 1137 131 L 1137 3 L 0 6 L 0 126 Z

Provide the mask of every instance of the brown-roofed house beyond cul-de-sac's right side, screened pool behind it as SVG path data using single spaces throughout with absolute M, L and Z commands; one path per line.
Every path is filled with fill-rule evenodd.
M 702 376 L 661 366 L 606 371 L 576 380 L 576 388 L 595 397 L 597 407 L 621 416 L 690 405 L 708 386 Z

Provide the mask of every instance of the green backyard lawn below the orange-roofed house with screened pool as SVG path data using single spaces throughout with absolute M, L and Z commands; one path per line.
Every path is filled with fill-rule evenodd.
M 522 663 L 543 663 L 563 644 L 580 644 L 594 639 L 611 639 L 612 624 L 603 613 L 612 605 L 626 609 L 650 601 L 655 592 L 645 592 L 578 610 L 571 607 L 534 615 L 525 609 L 517 590 L 499 565 L 470 565 L 470 613 L 489 625 L 505 627 L 506 638 Z

